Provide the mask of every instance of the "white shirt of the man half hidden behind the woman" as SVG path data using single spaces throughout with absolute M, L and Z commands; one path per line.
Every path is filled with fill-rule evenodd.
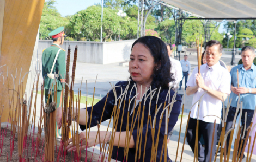
M 182 80 L 183 72 L 182 72 L 180 61 L 170 57 L 170 63 L 172 64 L 170 73 L 173 73 L 173 79 L 175 79 L 175 81 L 170 82 L 169 86 L 172 86 L 173 89 L 176 90 L 179 87 L 179 82 Z

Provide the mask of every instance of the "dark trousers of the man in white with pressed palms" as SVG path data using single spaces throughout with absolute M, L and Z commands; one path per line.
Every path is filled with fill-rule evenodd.
M 198 142 L 198 161 L 200 161 L 200 162 L 214 161 L 218 124 L 216 124 L 216 126 L 215 126 L 214 146 L 212 148 L 211 160 L 210 160 L 210 152 L 211 152 L 212 132 L 214 130 L 214 123 L 199 120 L 198 126 L 199 126 L 198 127 L 198 138 L 200 138 L 201 135 L 203 135 L 203 139 L 205 142 L 205 147 L 202 146 L 200 141 Z M 186 137 L 187 137 L 187 143 L 188 143 L 188 145 L 190 145 L 193 153 L 195 153 L 194 145 L 195 145 L 195 141 L 196 141 L 196 130 L 197 130 L 197 119 L 190 118 L 190 122 L 188 123 Z

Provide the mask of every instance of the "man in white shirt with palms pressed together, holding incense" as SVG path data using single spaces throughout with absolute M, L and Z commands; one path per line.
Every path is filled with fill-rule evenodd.
M 206 43 L 206 64 L 200 67 L 200 74 L 198 74 L 198 67 L 194 68 L 190 79 L 187 82 L 187 95 L 193 96 L 193 103 L 198 101 L 205 91 L 207 93 L 203 96 L 201 106 L 199 109 L 199 116 L 197 116 L 198 103 L 191 109 L 190 122 L 187 129 L 187 142 L 194 152 L 194 145 L 196 139 L 196 123 L 199 119 L 198 137 L 203 135 L 205 141 L 205 148 L 198 142 L 198 161 L 209 162 L 214 160 L 217 125 L 220 124 L 222 97 L 224 100 L 230 93 L 231 77 L 227 69 L 221 66 L 219 60 L 222 55 L 222 44 L 218 41 L 211 40 Z M 214 120 L 216 120 L 214 146 L 212 149 L 212 158 L 210 159 L 210 150 L 212 142 L 212 132 L 214 129 Z

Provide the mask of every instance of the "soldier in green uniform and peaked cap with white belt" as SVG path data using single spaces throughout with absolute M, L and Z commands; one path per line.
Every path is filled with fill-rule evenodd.
M 52 36 L 53 43 L 51 47 L 44 49 L 42 53 L 42 76 L 45 78 L 45 102 L 49 100 L 49 104 L 52 102 L 52 97 L 48 98 L 49 89 L 51 89 L 51 83 L 54 77 L 57 78 L 57 108 L 61 106 L 62 99 L 62 81 L 65 80 L 66 73 L 66 53 L 65 50 L 59 46 L 63 44 L 66 37 L 64 33 L 64 27 L 59 27 L 48 34 Z M 55 74 L 54 74 L 55 73 Z M 59 75 L 58 75 L 59 73 Z M 60 75 L 61 74 L 61 75 Z M 62 77 L 63 80 L 62 80 Z M 54 86 L 52 87 L 52 94 L 54 96 Z M 56 124 L 56 136 L 60 136 L 60 130 L 58 130 Z

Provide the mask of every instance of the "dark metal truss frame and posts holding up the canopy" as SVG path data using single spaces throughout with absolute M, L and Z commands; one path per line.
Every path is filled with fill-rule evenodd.
M 155 2 L 155 3 L 153 3 Z M 191 12 L 188 11 L 183 11 L 181 8 L 176 8 L 173 7 L 172 5 L 169 5 L 167 3 L 160 2 L 160 0 L 138 0 L 138 31 L 137 31 L 137 37 L 139 38 L 139 35 L 145 36 L 145 25 L 147 22 L 148 15 L 150 14 L 150 11 L 155 7 L 155 5 L 159 3 L 167 7 L 167 9 L 172 13 L 174 21 L 175 21 L 175 52 L 174 52 L 174 57 L 176 60 L 180 60 L 180 53 L 181 51 L 178 51 L 178 46 L 181 45 L 181 36 L 182 36 L 182 27 L 183 24 L 186 20 L 201 20 L 204 28 L 204 37 L 205 37 L 205 43 L 208 42 L 211 38 L 212 33 L 214 30 L 223 23 L 218 24 L 213 24 L 211 20 L 256 20 L 256 17 L 217 17 L 217 18 L 212 18 L 212 17 L 202 17 L 196 14 L 192 14 Z M 147 9 L 146 9 L 147 6 Z M 170 10 L 170 8 L 175 9 L 173 12 Z M 148 11 L 147 13 L 145 11 Z M 145 16 L 144 16 L 145 14 Z M 176 15 L 175 15 L 176 14 Z M 195 17 L 191 17 L 195 16 Z M 141 21 L 140 21 L 141 19 Z M 214 25 L 214 27 L 211 27 L 211 24 Z M 214 30 L 210 30 L 211 28 L 214 28 Z M 140 33 L 140 34 L 139 34 Z M 234 49 L 233 49 L 234 50 Z M 234 54 L 233 54 L 234 55 Z M 232 61 L 233 62 L 233 61 Z M 232 64 L 232 63 L 231 63 Z

